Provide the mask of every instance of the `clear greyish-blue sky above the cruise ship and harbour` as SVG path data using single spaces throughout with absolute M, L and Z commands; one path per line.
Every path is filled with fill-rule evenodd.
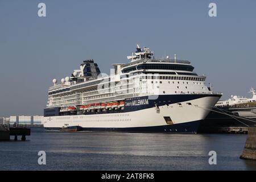
M 208 16 L 210 2 L 217 17 Z M 191 60 L 223 98 L 249 96 L 256 88 L 255 20 L 255 0 L 0 0 L 0 115 L 43 114 L 52 78 L 69 76 L 85 59 L 109 73 L 137 43 L 156 57 Z

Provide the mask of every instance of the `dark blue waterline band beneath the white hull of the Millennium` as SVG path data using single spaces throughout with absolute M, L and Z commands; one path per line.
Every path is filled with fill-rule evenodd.
M 139 132 L 139 133 L 197 133 L 201 121 L 180 123 L 176 125 L 148 126 L 148 127 L 84 127 L 84 131 L 116 131 L 116 132 Z M 46 127 L 47 130 L 59 130 L 56 127 Z

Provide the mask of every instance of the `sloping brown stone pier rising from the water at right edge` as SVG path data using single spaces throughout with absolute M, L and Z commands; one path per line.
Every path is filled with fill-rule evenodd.
M 256 127 L 249 127 L 245 148 L 240 159 L 256 160 Z

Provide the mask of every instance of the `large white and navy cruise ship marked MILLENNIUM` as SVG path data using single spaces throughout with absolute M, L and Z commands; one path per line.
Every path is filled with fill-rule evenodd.
M 85 60 L 71 76 L 53 79 L 48 89 L 46 129 L 79 126 L 85 131 L 197 133 L 222 93 L 205 84 L 188 60 L 139 47 L 110 75 Z

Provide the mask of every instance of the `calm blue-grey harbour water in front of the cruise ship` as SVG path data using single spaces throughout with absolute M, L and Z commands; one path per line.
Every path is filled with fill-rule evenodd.
M 246 137 L 239 134 L 63 133 L 34 128 L 26 142 L 0 142 L 0 169 L 256 170 L 255 161 L 239 159 Z M 38 164 L 39 151 L 46 152 L 46 165 Z M 209 151 L 217 152 L 217 165 L 209 165 Z

